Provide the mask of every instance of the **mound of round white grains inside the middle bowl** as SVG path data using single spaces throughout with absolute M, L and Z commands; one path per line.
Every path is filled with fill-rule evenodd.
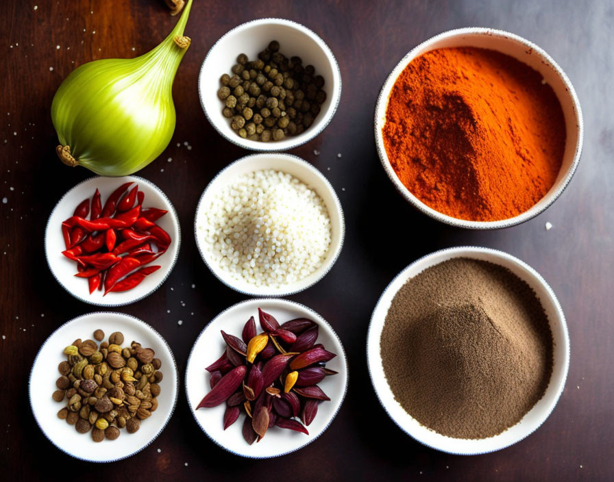
M 208 256 L 234 279 L 279 288 L 308 277 L 326 259 L 331 237 L 326 205 L 287 173 L 239 176 L 205 212 Z

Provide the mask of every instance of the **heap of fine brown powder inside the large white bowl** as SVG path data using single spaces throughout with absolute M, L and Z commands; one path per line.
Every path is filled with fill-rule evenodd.
M 480 439 L 515 425 L 543 396 L 552 345 L 527 283 L 498 264 L 455 258 L 397 292 L 380 352 L 408 414 L 443 435 Z

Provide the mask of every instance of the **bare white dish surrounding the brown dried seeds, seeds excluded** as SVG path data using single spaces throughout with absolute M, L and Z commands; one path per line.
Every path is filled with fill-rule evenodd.
M 160 381 L 158 409 L 153 411 L 147 420 L 143 420 L 136 433 L 127 433 L 125 429 L 121 429 L 121 435 L 113 441 L 105 439 L 102 442 L 94 442 L 91 431 L 77 433 L 74 425 L 58 418 L 58 411 L 66 407 L 66 400 L 56 402 L 51 398 L 51 394 L 58 390 L 58 365 L 66 361 L 64 348 L 77 338 L 93 339 L 96 329 L 104 331 L 105 340 L 108 340 L 108 336 L 114 331 L 121 331 L 124 335 L 124 346 L 135 340 L 147 348 L 152 348 L 156 352 L 156 358 L 162 362 L 160 371 L 164 375 Z M 133 316 L 98 312 L 74 318 L 51 333 L 34 359 L 28 391 L 36 423 L 53 445 L 76 459 L 112 462 L 130 457 L 156 440 L 173 414 L 178 387 L 175 358 L 160 333 Z

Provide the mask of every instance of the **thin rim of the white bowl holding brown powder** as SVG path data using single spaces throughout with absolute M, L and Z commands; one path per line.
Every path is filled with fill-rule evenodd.
M 374 325 L 374 318 L 375 318 L 376 312 L 377 312 L 378 308 L 380 307 L 380 303 L 382 303 L 382 299 L 384 298 L 384 295 L 386 295 L 387 292 L 389 292 L 389 290 L 391 289 L 391 286 L 393 286 L 393 284 L 398 279 L 400 279 L 402 277 L 406 277 L 406 272 L 408 272 L 408 270 L 410 270 L 410 268 L 413 268 L 413 267 L 417 266 L 418 264 L 424 263 L 424 262 L 428 261 L 429 259 L 431 259 L 432 257 L 436 257 L 437 255 L 441 255 L 443 253 L 451 253 L 452 257 L 450 259 L 455 258 L 455 257 L 471 257 L 472 253 L 485 253 L 487 255 L 493 255 L 495 258 L 498 258 L 498 259 L 506 259 L 506 260 L 508 260 L 510 262 L 513 262 L 513 264 L 516 264 L 517 266 L 519 266 L 521 268 L 524 268 L 524 270 L 527 270 L 528 272 L 530 272 L 530 274 L 533 275 L 535 277 L 535 279 L 537 279 L 537 281 L 539 281 L 541 286 L 543 286 L 545 291 L 548 293 L 548 296 L 550 296 L 550 299 L 552 300 L 552 303 L 554 304 L 554 307 L 555 307 L 555 310 L 556 310 L 558 322 L 559 322 L 559 324 L 561 326 L 561 331 L 563 333 L 563 341 L 564 341 L 565 345 L 567 346 L 567 349 L 565 350 L 565 357 L 563 359 L 563 377 L 561 379 L 560 385 L 558 385 L 558 387 L 556 388 L 556 396 L 554 397 L 554 400 L 552 401 L 552 406 L 550 407 L 550 409 L 547 412 L 545 411 L 543 416 L 542 416 L 542 418 L 541 418 L 541 420 L 539 421 L 539 423 L 535 427 L 533 427 L 530 431 L 525 433 L 522 437 L 519 437 L 517 440 L 514 440 L 513 442 L 511 442 L 509 444 L 505 444 L 503 446 L 499 446 L 499 447 L 492 448 L 492 449 L 489 449 L 489 450 L 465 451 L 465 452 L 451 451 L 451 450 L 447 450 L 445 448 L 441 448 L 439 446 L 434 446 L 433 444 L 428 444 L 428 443 L 424 442 L 423 440 L 421 440 L 421 437 L 419 437 L 419 436 L 415 435 L 414 433 L 412 433 L 412 431 L 410 429 L 407 429 L 406 427 L 403 427 L 402 424 L 400 424 L 400 422 L 398 422 L 391 415 L 391 413 L 388 410 L 388 408 L 386 407 L 386 405 L 384 405 L 384 401 L 382 401 L 382 397 L 380 396 L 380 392 L 378 392 L 378 388 L 376 386 L 376 381 L 375 381 L 375 378 L 373 376 L 373 370 L 371 369 L 372 360 L 371 360 L 371 357 L 369 357 L 369 346 L 371 346 L 371 344 L 373 344 L 373 343 L 377 343 L 378 346 L 379 346 L 379 343 L 380 343 L 379 338 L 380 338 L 380 334 L 381 333 L 378 333 L 378 335 L 377 335 L 378 339 L 373 341 L 373 338 L 376 336 L 373 333 L 373 325 Z M 421 270 L 420 272 L 422 272 L 422 271 L 423 270 Z M 523 278 L 521 278 L 521 279 L 523 279 Z M 526 279 L 523 279 L 523 281 L 526 281 Z M 549 322 L 549 325 L 552 327 L 552 322 L 550 320 L 548 322 Z M 565 314 L 563 313 L 563 308 L 561 308 L 561 303 L 559 303 L 558 298 L 556 298 L 556 294 L 554 294 L 554 290 L 552 290 L 550 285 L 545 281 L 545 279 L 543 279 L 543 277 L 539 274 L 539 272 L 537 272 L 537 270 L 535 270 L 535 268 L 532 268 L 532 266 L 530 266 L 526 262 L 522 261 L 521 259 L 515 257 L 514 255 L 511 255 L 511 254 L 506 253 L 505 251 L 501 251 L 499 249 L 486 248 L 486 247 L 482 247 L 482 246 L 453 246 L 453 247 L 450 247 L 450 248 L 439 249 L 437 251 L 433 251 L 432 253 L 428 253 L 426 255 L 423 255 L 423 256 L 419 257 L 414 262 L 411 262 L 410 264 L 408 264 L 408 266 L 403 268 L 390 281 L 390 283 L 388 283 L 386 288 L 384 288 L 384 290 L 382 291 L 382 294 L 380 294 L 380 297 L 378 298 L 378 302 L 376 303 L 375 307 L 373 308 L 373 313 L 371 314 L 371 318 L 369 320 L 369 328 L 367 329 L 367 350 L 366 351 L 367 351 L 367 370 L 369 371 L 369 378 L 371 379 L 371 385 L 373 386 L 373 391 L 376 393 L 376 396 L 378 397 L 378 401 L 380 402 L 380 405 L 382 405 L 382 408 L 384 409 L 386 414 L 397 425 L 397 427 L 399 427 L 402 431 L 404 431 L 404 433 L 406 433 L 407 435 L 412 437 L 413 440 L 419 442 L 420 444 L 423 444 L 424 446 L 427 446 L 429 448 L 432 448 L 432 449 L 440 451 L 440 452 L 450 453 L 452 455 L 482 455 L 482 454 L 487 454 L 487 453 L 493 453 L 493 452 L 496 452 L 496 451 L 500 451 L 500 450 L 503 450 L 504 448 L 508 448 L 508 447 L 510 447 L 510 446 L 512 446 L 514 444 L 517 444 L 521 440 L 524 440 L 526 437 L 528 437 L 529 435 L 531 435 L 532 433 L 537 431 L 537 429 L 539 429 L 539 427 L 541 427 L 543 425 L 543 423 L 546 420 L 548 420 L 548 417 L 550 416 L 550 414 L 552 414 L 552 411 L 554 411 L 554 408 L 558 404 L 558 401 L 560 400 L 561 395 L 563 394 L 563 390 L 565 390 L 565 383 L 567 382 L 567 376 L 569 375 L 569 359 L 570 359 L 571 348 L 570 348 L 570 344 L 569 344 L 569 330 L 567 329 L 567 322 L 565 321 Z M 378 351 L 378 356 L 381 357 L 379 351 Z M 551 380 L 552 380 L 552 375 L 551 375 Z M 387 381 L 386 381 L 386 384 L 387 384 Z M 546 390 L 548 390 L 548 388 L 546 388 Z M 411 417 L 411 415 L 409 415 L 409 416 Z M 411 417 L 411 418 L 413 418 L 413 417 Z M 426 427 L 426 428 L 428 429 L 428 427 Z M 495 437 L 496 436 L 498 436 L 498 435 L 495 435 Z M 450 438 L 454 438 L 454 437 L 450 437 Z M 488 440 L 489 438 L 493 438 L 493 437 L 487 437 L 485 439 L 480 439 L 480 440 Z M 454 440 L 468 440 L 468 439 L 454 439 Z

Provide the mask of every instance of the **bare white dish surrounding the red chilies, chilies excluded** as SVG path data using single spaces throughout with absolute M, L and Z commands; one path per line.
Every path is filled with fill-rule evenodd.
M 64 238 L 62 237 L 62 222 L 73 215 L 75 207 L 81 201 L 89 197 L 91 202 L 96 188 L 100 191 L 101 202 L 104 206 L 108 196 L 116 188 L 128 181 L 133 181 L 134 185 L 138 184 L 138 190 L 145 193 L 143 207 L 158 207 L 161 210 L 168 211 L 156 223 L 171 236 L 171 246 L 169 246 L 166 253 L 151 263 L 151 265 L 159 264 L 162 267 L 147 276 L 136 288 L 125 292 L 110 292 L 106 296 L 103 296 L 104 291 L 99 290 L 95 290 L 95 292 L 90 294 L 88 280 L 75 277 L 77 263 L 62 255 L 62 251 L 66 249 Z M 133 186 L 130 186 L 130 188 Z M 175 266 L 177 256 L 179 255 L 180 243 L 179 218 L 177 218 L 177 213 L 171 201 L 169 201 L 169 198 L 158 186 L 138 176 L 90 177 L 90 179 L 77 184 L 69 192 L 66 192 L 62 199 L 58 201 L 56 207 L 53 208 L 49 221 L 47 221 L 47 228 L 45 229 L 45 256 L 47 257 L 47 264 L 49 264 L 53 277 L 58 280 L 58 283 L 62 285 L 64 290 L 75 296 L 75 298 L 84 301 L 84 303 L 98 306 L 130 305 L 130 303 L 143 299 L 145 296 L 149 296 L 149 294 L 156 291 L 169 277 L 171 270 Z

